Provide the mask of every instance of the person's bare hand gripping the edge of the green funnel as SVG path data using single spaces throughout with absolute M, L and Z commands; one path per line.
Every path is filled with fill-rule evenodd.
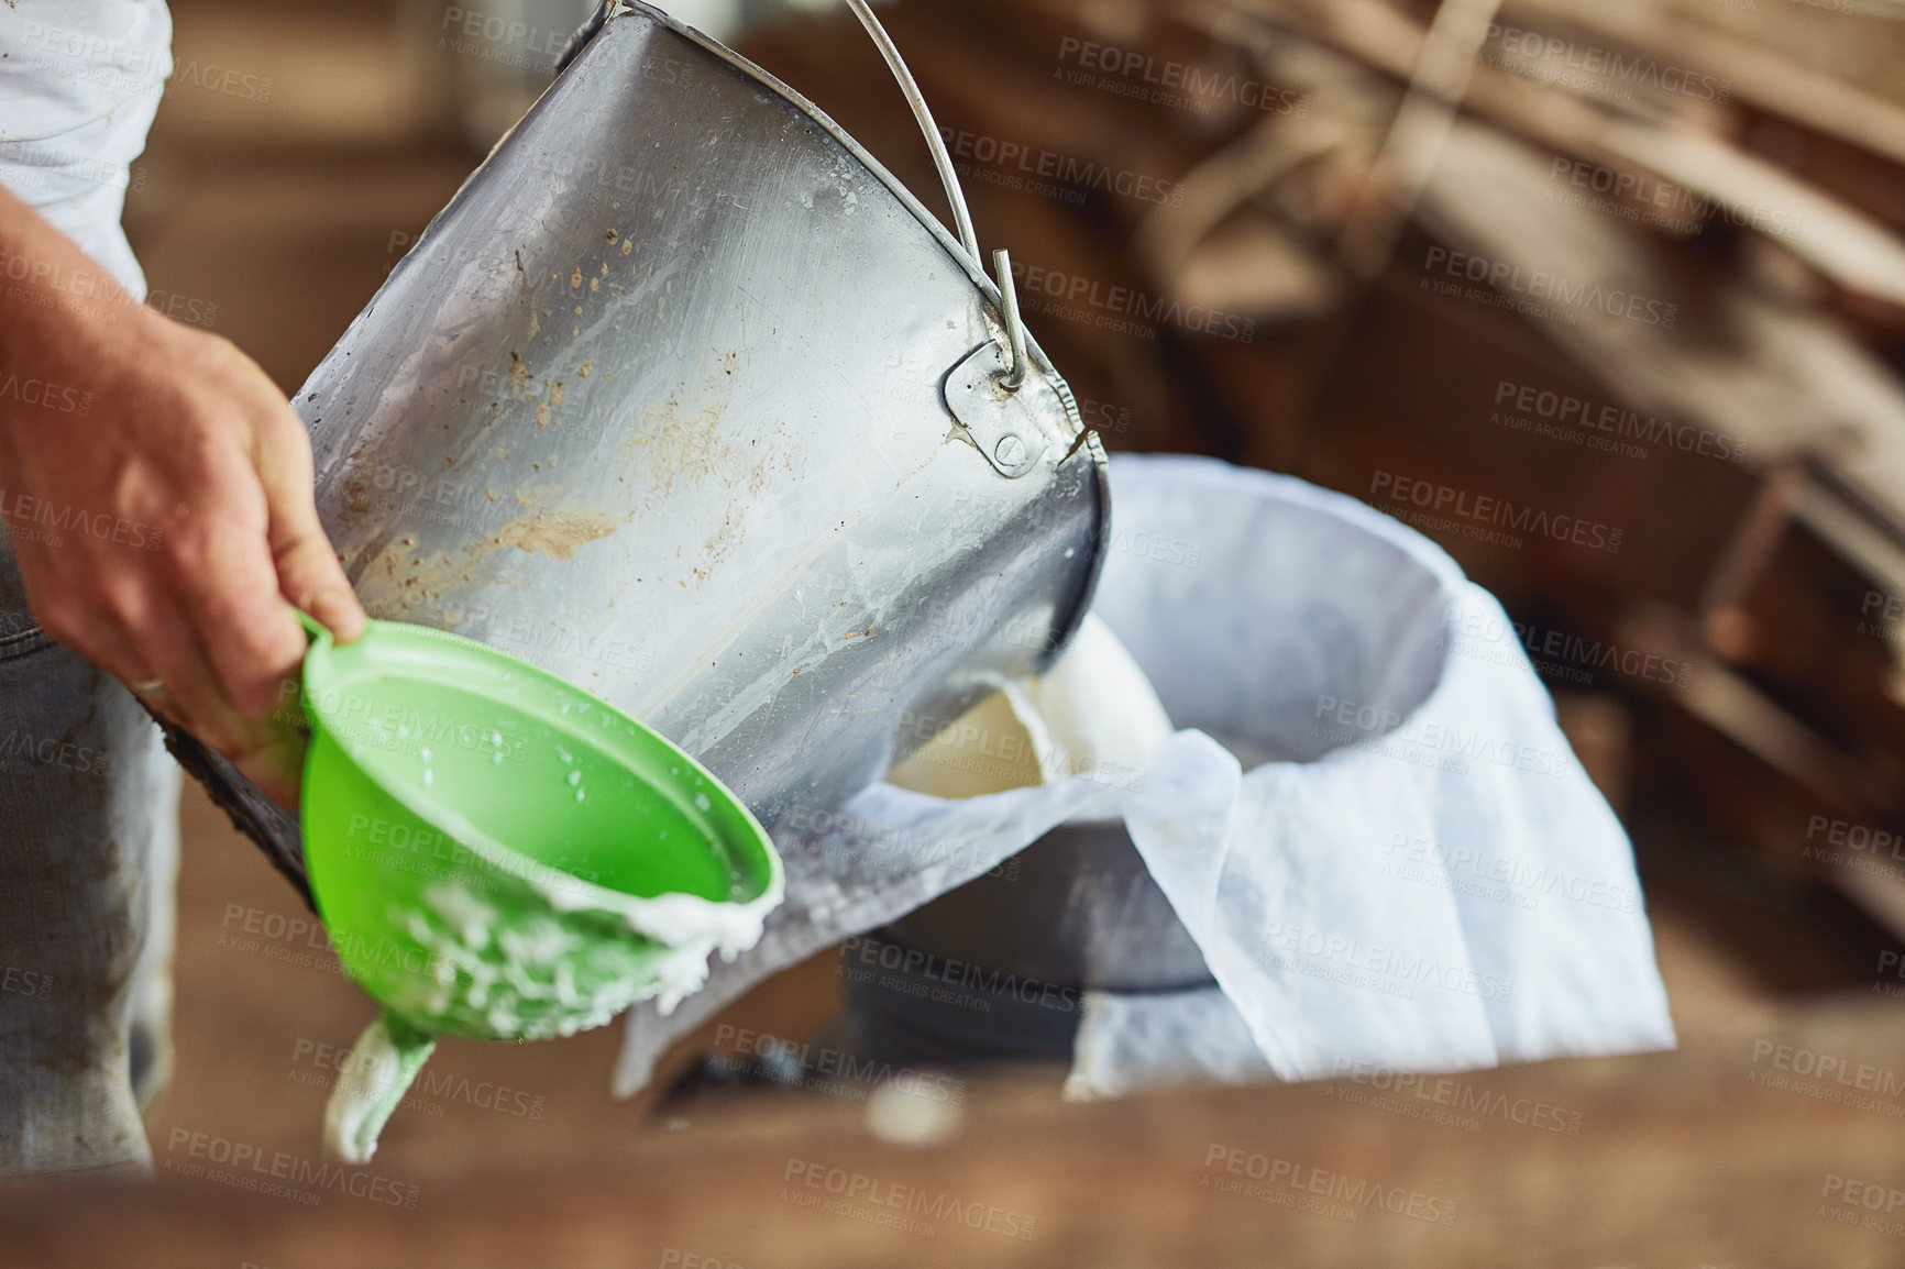
M 288 604 L 339 642 L 364 629 L 303 423 L 244 352 L 133 301 L 4 192 L 0 253 L 53 301 L 0 299 L 0 389 L 40 385 L 0 391 L 6 528 L 34 617 L 295 806 L 278 707 L 307 640 Z

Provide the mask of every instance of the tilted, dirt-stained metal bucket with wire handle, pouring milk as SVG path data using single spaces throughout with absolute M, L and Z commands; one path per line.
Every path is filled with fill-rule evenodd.
M 964 244 L 812 103 L 617 0 L 295 406 L 371 615 L 531 659 L 773 831 L 1090 606 L 1105 455 Z M 295 819 L 173 737 L 297 880 Z

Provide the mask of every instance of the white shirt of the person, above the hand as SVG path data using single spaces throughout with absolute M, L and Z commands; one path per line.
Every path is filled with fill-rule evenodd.
M 170 74 L 164 0 L 0 6 L 0 185 L 139 297 L 145 274 L 120 215 Z M 0 259 L 0 274 L 8 267 Z

